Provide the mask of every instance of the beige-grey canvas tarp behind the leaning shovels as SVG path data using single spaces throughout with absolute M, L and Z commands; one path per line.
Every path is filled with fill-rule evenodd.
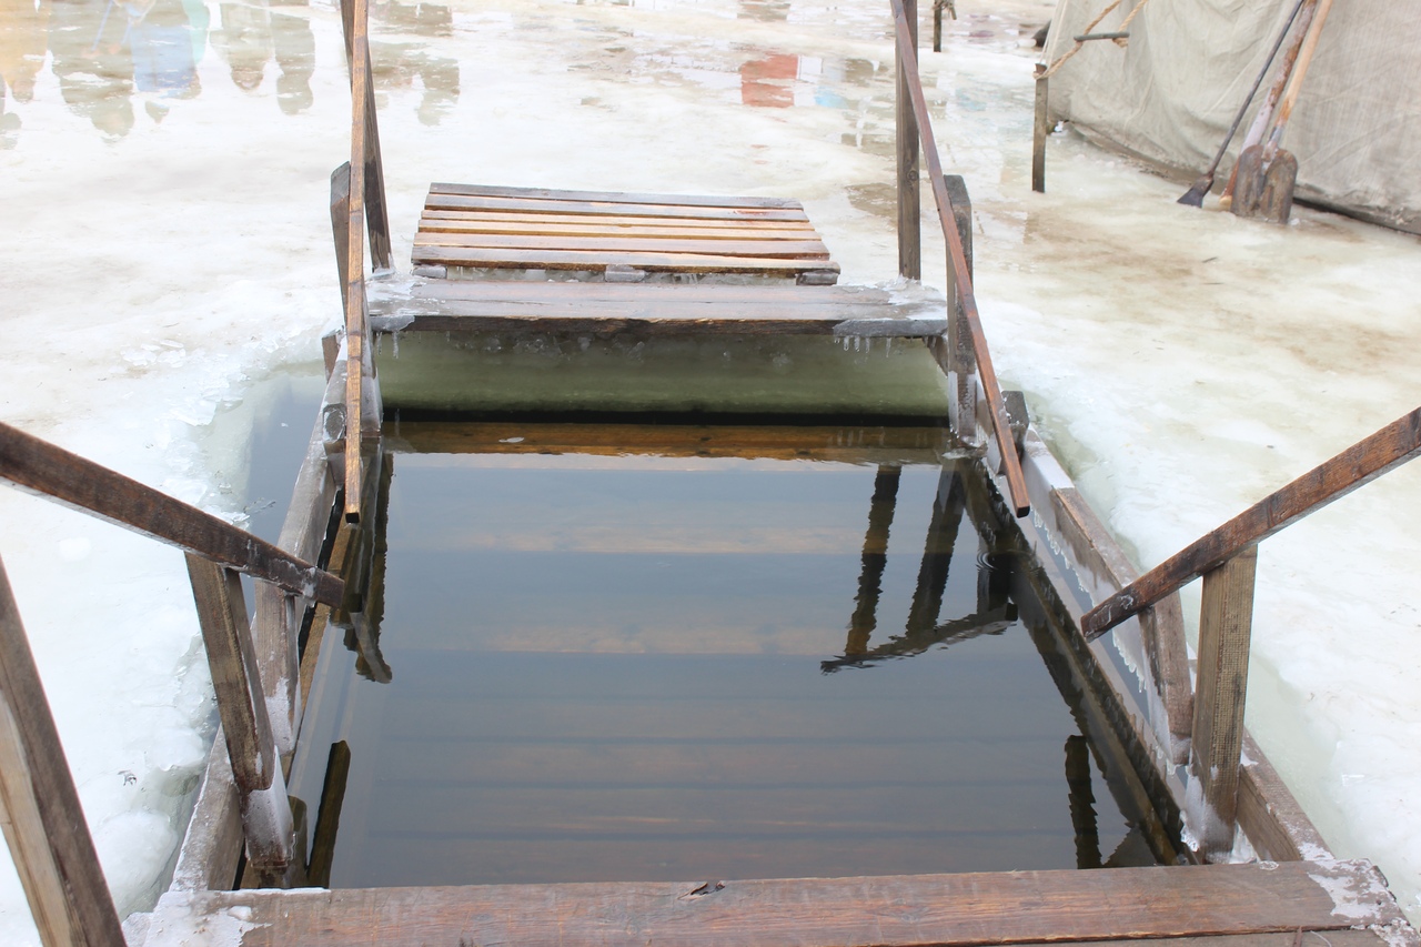
M 1130 24 L 1125 48 L 1108 40 L 1087 43 L 1052 77 L 1053 119 L 1198 175 L 1223 141 L 1293 4 L 1147 0 Z M 1107 0 L 1060 0 L 1046 61 L 1069 51 L 1106 6 Z M 1134 6 L 1125 0 L 1096 31 L 1118 28 Z M 1297 198 L 1421 232 L 1418 94 L 1421 4 L 1336 0 L 1283 137 L 1283 148 L 1297 156 Z M 1228 179 L 1250 119 L 1252 109 L 1216 186 Z

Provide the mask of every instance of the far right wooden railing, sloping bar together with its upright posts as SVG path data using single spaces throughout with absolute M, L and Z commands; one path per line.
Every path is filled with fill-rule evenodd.
M 976 296 L 972 291 L 972 267 L 968 264 L 966 250 L 962 236 L 958 233 L 956 213 L 946 178 L 942 173 L 942 161 L 938 158 L 938 144 L 932 134 L 932 119 L 928 115 L 928 102 L 922 92 L 922 80 L 918 75 L 917 54 L 917 3 L 915 0 L 890 0 L 892 4 L 894 26 L 897 31 L 897 60 L 898 60 L 898 88 L 899 88 L 899 124 L 898 124 L 898 246 L 899 272 L 909 279 L 918 279 L 921 270 L 919 233 L 917 230 L 918 206 L 918 166 L 917 151 L 921 139 L 922 155 L 928 164 L 928 181 L 932 183 L 932 196 L 938 206 L 938 222 L 942 225 L 942 237 L 948 249 L 948 321 L 961 321 L 966 336 L 966 344 L 959 344 L 952 338 L 953 331 L 945 346 L 951 357 L 958 360 L 956 371 L 963 375 L 976 374 L 986 398 L 988 417 L 992 437 L 1002 455 L 1002 474 L 1006 476 L 1007 492 L 1010 493 L 1012 509 L 1017 516 L 1026 516 L 1032 506 L 1026 492 L 1026 478 L 1022 474 L 1022 462 L 1016 442 L 1012 438 L 1012 427 L 1007 422 L 1006 407 L 1002 398 L 1002 388 L 996 380 L 996 370 L 992 367 L 992 353 L 986 347 L 986 336 L 982 331 L 982 317 L 978 313 Z M 907 4 L 907 6 L 905 6 Z M 912 10 L 909 18 L 908 10 Z M 907 92 L 911 108 L 904 108 L 901 97 Z M 966 353 L 963 353 L 966 350 Z M 969 354 L 969 360 L 963 358 Z M 969 363 L 969 364 L 968 364 Z M 963 412 L 966 414 L 966 412 Z M 959 415 L 958 422 L 965 424 L 966 417 Z M 972 427 L 976 425 L 975 414 L 971 417 Z

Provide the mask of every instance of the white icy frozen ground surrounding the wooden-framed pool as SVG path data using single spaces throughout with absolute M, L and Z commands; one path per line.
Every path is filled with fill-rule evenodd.
M 237 516 L 247 424 L 213 439 L 213 419 L 318 358 L 337 319 L 338 17 L 327 0 L 128 6 L 148 14 L 0 4 L 0 419 Z M 924 74 L 976 203 L 999 371 L 1148 566 L 1421 401 L 1421 246 L 1181 208 L 1184 185 L 1070 134 L 1032 195 L 1023 38 L 1049 6 L 959 0 Z M 885 0 L 374 7 L 396 260 L 428 182 L 477 181 L 796 196 L 845 282 L 894 274 Z M 1414 465 L 1263 545 L 1249 701 L 1336 850 L 1381 865 L 1414 920 L 1418 488 Z M 0 523 L 115 897 L 144 909 L 212 734 L 182 559 L 6 489 Z M 0 943 L 33 941 L 4 872 Z

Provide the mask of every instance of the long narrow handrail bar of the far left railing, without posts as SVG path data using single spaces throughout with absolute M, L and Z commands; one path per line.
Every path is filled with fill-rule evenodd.
M 365 374 L 365 135 L 369 97 L 367 0 L 351 7 L 351 189 L 345 243 L 345 519 L 360 522 L 361 391 Z

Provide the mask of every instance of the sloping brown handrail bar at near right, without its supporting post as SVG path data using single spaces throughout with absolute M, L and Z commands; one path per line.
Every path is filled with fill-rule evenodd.
M 1189 543 L 1086 613 L 1081 630 L 1087 638 L 1100 637 L 1141 609 L 1221 566 L 1245 546 L 1268 539 L 1418 455 L 1421 455 L 1421 408 L 1363 438 Z

